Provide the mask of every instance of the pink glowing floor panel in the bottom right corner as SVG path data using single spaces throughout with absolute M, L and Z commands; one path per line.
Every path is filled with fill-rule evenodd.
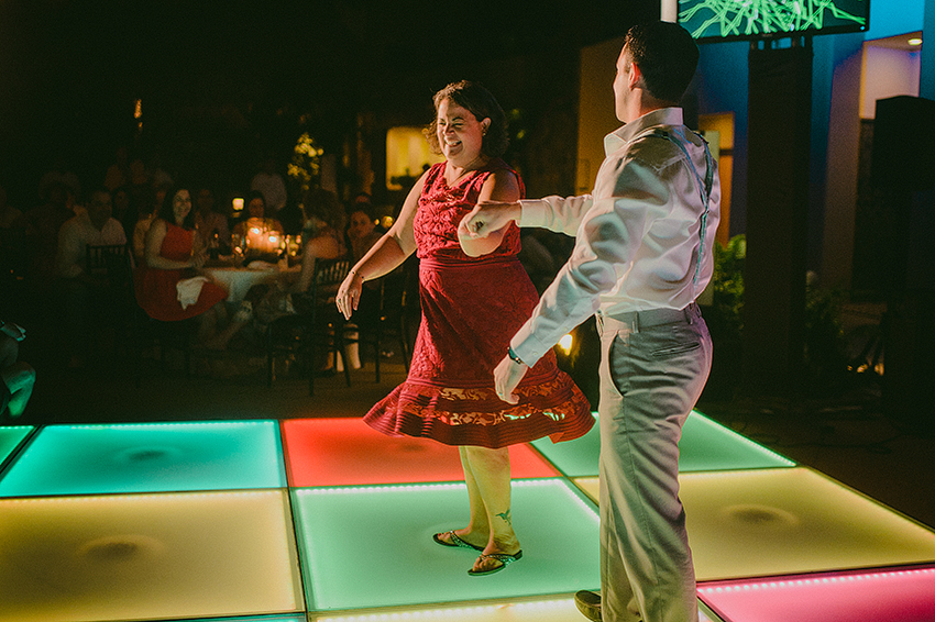
M 718 581 L 698 596 L 725 622 L 932 622 L 935 568 Z

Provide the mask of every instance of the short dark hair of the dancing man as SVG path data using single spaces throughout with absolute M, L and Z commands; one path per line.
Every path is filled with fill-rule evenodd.
M 695 75 L 698 46 L 689 31 L 672 22 L 637 24 L 628 32 L 624 47 L 639 66 L 642 84 L 656 99 L 678 102 Z

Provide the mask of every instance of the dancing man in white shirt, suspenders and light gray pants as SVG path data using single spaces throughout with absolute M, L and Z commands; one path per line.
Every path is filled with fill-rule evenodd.
M 480 204 L 465 219 L 476 236 L 509 222 L 575 236 L 494 376 L 502 399 L 514 402 L 528 366 L 596 313 L 602 591 L 575 595 L 592 620 L 697 620 L 678 444 L 711 369 L 695 299 L 713 273 L 721 201 L 707 145 L 678 108 L 697 58 L 676 24 L 630 29 L 614 80 L 625 125 L 604 141 L 593 192 Z

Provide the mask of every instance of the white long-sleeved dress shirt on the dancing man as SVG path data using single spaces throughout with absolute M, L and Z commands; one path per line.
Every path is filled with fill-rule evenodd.
M 520 226 L 575 236 L 571 258 L 512 341 L 527 365 L 598 310 L 684 309 L 711 280 L 721 186 L 682 110 L 627 123 L 604 138 L 604 151 L 591 195 L 520 201 Z

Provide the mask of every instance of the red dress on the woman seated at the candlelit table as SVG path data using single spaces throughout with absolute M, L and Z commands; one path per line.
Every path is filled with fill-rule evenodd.
M 160 248 L 160 255 L 174 262 L 185 262 L 191 257 L 195 231 L 173 223 L 166 223 L 166 236 Z M 163 322 L 177 322 L 200 315 L 228 297 L 219 285 L 211 281 L 201 286 L 198 301 L 185 309 L 178 302 L 176 285 L 179 280 L 194 276 L 191 270 L 164 270 L 140 266 L 133 275 L 136 302 L 150 318 Z

